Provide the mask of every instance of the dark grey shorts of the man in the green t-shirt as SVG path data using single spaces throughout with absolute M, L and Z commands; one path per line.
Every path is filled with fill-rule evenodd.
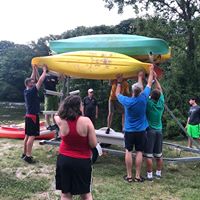
M 162 143 L 163 143 L 162 131 L 149 128 L 147 131 L 147 140 L 144 148 L 144 157 L 161 158 Z

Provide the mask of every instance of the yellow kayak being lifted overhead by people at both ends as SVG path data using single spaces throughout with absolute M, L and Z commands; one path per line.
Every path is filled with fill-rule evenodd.
M 124 78 L 137 75 L 141 70 L 149 73 L 149 63 L 140 62 L 120 53 L 105 51 L 76 51 L 53 56 L 36 57 L 32 64 L 41 67 L 46 64 L 49 70 L 71 77 L 110 80 L 117 74 Z

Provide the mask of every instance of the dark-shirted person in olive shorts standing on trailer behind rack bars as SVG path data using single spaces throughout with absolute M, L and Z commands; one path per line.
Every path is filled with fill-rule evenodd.
M 58 77 L 54 75 L 47 74 L 44 79 L 44 88 L 46 90 L 56 91 L 56 85 L 58 84 Z M 57 111 L 58 110 L 58 97 L 50 94 L 45 94 L 44 96 L 44 110 L 45 111 Z M 50 121 L 51 115 L 45 115 L 47 129 L 52 129 L 54 125 L 51 125 Z M 53 117 L 53 116 L 52 116 Z M 53 123 L 55 120 L 53 117 Z

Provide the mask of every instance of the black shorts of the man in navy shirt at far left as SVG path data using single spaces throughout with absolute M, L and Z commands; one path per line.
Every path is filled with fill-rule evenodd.
M 33 115 L 35 118 L 25 116 L 25 134 L 28 136 L 40 135 L 39 115 Z

